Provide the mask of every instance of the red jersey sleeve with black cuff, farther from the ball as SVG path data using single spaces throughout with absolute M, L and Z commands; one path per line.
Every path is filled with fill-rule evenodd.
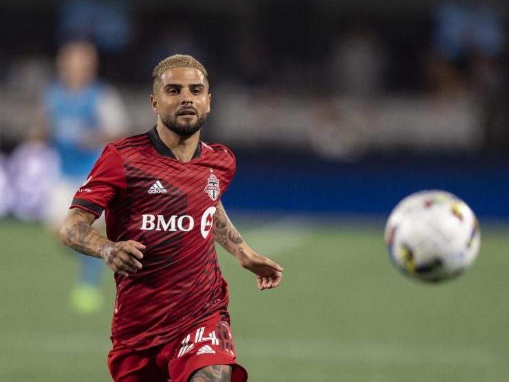
M 113 199 L 126 190 L 124 163 L 120 153 L 108 144 L 94 164 L 87 181 L 74 195 L 71 207 L 79 207 L 100 216 Z

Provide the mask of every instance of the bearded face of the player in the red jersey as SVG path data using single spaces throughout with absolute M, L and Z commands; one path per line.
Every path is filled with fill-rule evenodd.
M 210 111 L 208 82 L 198 69 L 168 69 L 155 81 L 151 103 L 166 128 L 190 137 L 199 131 Z

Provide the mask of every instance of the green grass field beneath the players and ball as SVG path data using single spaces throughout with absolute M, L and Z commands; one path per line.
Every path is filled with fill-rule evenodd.
M 237 224 L 285 268 L 279 289 L 258 291 L 219 251 L 250 381 L 509 381 L 508 227 L 481 222 L 474 267 L 425 285 L 390 265 L 382 223 L 289 221 Z M 2 221 L 0 240 L 0 381 L 111 381 L 111 274 L 107 306 L 75 315 L 73 256 L 39 225 Z

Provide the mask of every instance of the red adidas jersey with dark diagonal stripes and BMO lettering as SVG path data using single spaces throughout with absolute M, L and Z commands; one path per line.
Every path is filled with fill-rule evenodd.
M 111 334 L 136 349 L 228 306 L 213 240 L 215 205 L 235 174 L 235 157 L 220 144 L 199 142 L 191 161 L 175 159 L 155 127 L 102 152 L 71 207 L 106 214 L 113 241 L 144 244 L 142 269 L 115 275 Z

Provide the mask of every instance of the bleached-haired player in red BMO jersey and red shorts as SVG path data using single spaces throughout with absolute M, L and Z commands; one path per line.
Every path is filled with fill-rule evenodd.
M 221 205 L 235 157 L 199 141 L 210 111 L 206 69 L 175 55 L 152 78 L 157 124 L 106 146 L 74 196 L 62 240 L 115 272 L 113 380 L 246 381 L 214 240 L 261 290 L 277 287 L 283 269 L 244 242 Z M 107 238 L 92 227 L 103 210 Z

